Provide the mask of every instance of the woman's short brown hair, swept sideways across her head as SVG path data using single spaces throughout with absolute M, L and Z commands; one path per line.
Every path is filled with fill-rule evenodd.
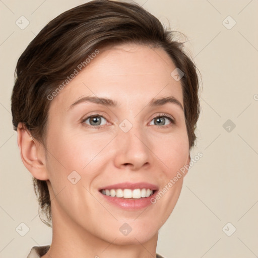
M 96 48 L 137 43 L 163 48 L 184 76 L 180 79 L 189 149 L 196 142 L 200 113 L 199 77 L 195 63 L 174 39 L 173 31 L 136 3 L 95 0 L 66 11 L 50 21 L 20 56 L 12 93 L 14 130 L 19 122 L 44 144 L 48 109 L 56 87 Z M 172 72 L 172 71 L 171 71 Z M 51 221 L 46 181 L 33 178 L 39 209 Z M 50 226 L 47 221 L 42 220 Z

